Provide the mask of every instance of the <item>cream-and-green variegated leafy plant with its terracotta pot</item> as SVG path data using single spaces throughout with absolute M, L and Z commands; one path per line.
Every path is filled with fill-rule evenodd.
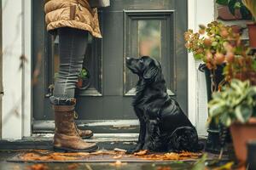
M 247 160 L 247 141 L 256 139 L 256 87 L 249 81 L 233 79 L 220 92 L 212 94 L 209 122 L 230 127 L 236 158 Z

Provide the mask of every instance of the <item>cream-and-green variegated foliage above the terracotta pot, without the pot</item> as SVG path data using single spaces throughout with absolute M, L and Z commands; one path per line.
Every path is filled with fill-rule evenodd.
M 221 92 L 212 94 L 208 107 L 209 122 L 221 122 L 226 127 L 233 122 L 245 123 L 256 117 L 256 86 L 233 79 Z

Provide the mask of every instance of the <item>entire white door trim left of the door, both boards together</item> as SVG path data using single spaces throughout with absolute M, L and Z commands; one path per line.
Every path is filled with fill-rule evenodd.
M 3 0 L 2 139 L 31 135 L 31 0 Z M 20 56 L 26 62 L 20 67 Z

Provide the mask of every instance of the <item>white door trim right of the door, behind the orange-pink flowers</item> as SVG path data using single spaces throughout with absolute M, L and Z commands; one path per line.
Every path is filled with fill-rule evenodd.
M 189 29 L 198 30 L 198 25 L 214 20 L 214 1 L 189 0 Z M 197 70 L 200 61 L 192 54 L 189 61 L 189 119 L 199 135 L 207 135 L 207 88 L 204 73 Z

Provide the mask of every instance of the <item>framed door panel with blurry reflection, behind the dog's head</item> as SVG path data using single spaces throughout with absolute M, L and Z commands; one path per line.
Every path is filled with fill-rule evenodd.
M 125 10 L 126 57 L 148 55 L 160 61 L 168 93 L 175 95 L 174 22 L 172 10 Z M 132 35 L 132 36 L 131 36 Z M 137 76 L 124 65 L 125 95 L 134 95 Z

